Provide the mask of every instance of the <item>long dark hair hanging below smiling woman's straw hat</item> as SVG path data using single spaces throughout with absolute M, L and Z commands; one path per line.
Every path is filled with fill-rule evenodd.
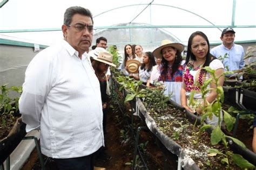
M 176 49 L 176 48 L 174 48 L 174 47 L 171 47 L 171 48 Z M 178 70 L 179 65 L 180 65 L 180 63 L 181 63 L 181 61 L 182 61 L 181 52 L 178 51 L 177 49 L 176 49 L 176 51 L 177 51 L 177 52 L 176 52 L 176 56 L 175 56 L 174 62 L 173 62 L 173 64 L 172 64 L 172 73 L 171 73 L 171 76 L 173 76 L 173 74 Z M 162 52 L 161 52 L 161 53 L 162 53 Z M 162 56 L 163 56 L 163 54 L 162 54 Z M 168 70 L 168 61 L 165 60 L 164 57 L 163 57 L 161 63 L 162 63 L 163 68 L 164 68 L 163 72 L 161 72 L 161 76 L 163 77 L 163 76 L 167 73 L 167 70 Z

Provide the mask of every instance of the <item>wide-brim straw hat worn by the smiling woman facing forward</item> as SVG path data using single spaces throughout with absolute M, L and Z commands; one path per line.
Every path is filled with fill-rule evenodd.
M 173 43 L 171 40 L 163 40 L 161 41 L 161 46 L 156 48 L 153 51 L 153 56 L 155 56 L 156 58 L 163 58 L 163 55 L 161 54 L 161 50 L 165 47 L 173 47 L 176 48 L 177 51 L 179 51 L 180 53 L 183 51 L 184 49 L 184 45 L 180 44 L 178 42 Z

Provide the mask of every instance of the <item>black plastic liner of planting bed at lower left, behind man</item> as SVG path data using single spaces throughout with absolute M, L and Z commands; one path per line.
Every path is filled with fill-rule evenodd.
M 0 165 L 9 157 L 26 135 L 26 124 L 18 118 L 8 136 L 0 141 Z

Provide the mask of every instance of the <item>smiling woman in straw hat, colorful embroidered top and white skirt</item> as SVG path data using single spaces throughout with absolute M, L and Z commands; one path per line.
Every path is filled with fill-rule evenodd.
M 180 90 L 183 81 L 184 67 L 181 63 L 183 49 L 184 46 L 180 43 L 163 40 L 161 46 L 153 51 L 156 58 L 162 58 L 158 81 L 164 83 L 164 94 L 171 95 L 171 100 L 178 104 L 180 104 Z

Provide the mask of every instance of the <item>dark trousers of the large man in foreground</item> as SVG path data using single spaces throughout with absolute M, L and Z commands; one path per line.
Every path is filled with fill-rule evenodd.
M 93 170 L 94 153 L 78 158 L 54 159 L 59 170 Z

